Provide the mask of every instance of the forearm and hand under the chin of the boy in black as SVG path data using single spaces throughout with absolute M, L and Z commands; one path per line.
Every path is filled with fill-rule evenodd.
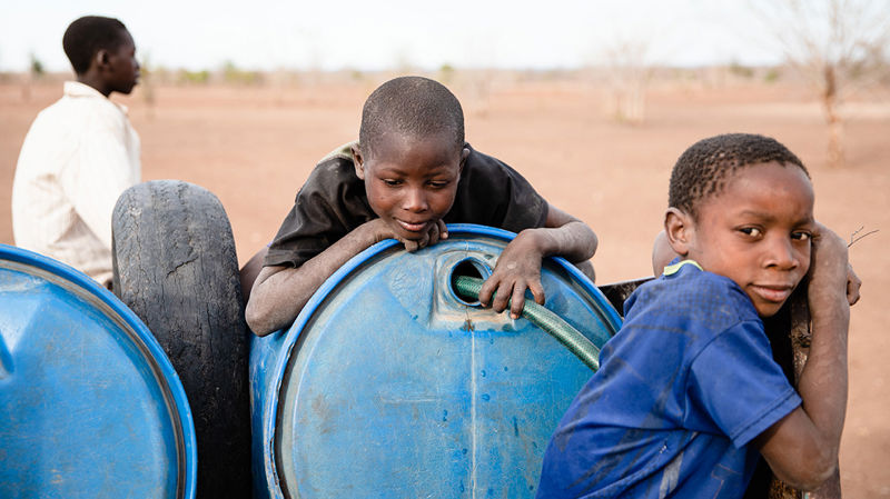
M 445 223 L 438 221 L 423 240 L 400 240 L 408 251 L 446 239 Z M 264 267 L 253 282 L 245 309 L 247 326 L 257 336 L 277 331 L 297 318 L 315 291 L 350 258 L 383 241 L 395 238 L 376 218 L 365 222 L 299 267 Z

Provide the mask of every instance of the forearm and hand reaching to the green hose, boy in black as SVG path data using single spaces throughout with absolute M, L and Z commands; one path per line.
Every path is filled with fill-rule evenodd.
M 593 266 L 589 260 L 597 243 L 596 234 L 586 223 L 547 203 L 544 227 L 523 230 L 504 248 L 494 272 L 482 286 L 479 302 L 484 306 L 491 302 L 492 308 L 501 312 L 512 299 L 511 316 L 517 319 L 526 289 L 532 291 L 537 303 L 544 303 L 544 288 L 541 286 L 541 260 L 544 257 L 564 257 L 593 279 Z

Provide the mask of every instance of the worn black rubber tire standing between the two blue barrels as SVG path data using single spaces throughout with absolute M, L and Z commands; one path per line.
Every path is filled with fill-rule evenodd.
M 249 330 L 222 204 L 191 183 L 140 183 L 118 199 L 112 234 L 113 291 L 158 339 L 188 396 L 197 497 L 250 497 Z

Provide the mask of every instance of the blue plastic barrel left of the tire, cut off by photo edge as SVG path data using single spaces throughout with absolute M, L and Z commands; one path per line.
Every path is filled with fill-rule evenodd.
M 0 244 L 0 497 L 194 498 L 196 459 L 145 325 L 81 272 Z

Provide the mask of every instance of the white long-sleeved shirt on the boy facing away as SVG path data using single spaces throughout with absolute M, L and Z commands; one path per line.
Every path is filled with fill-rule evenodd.
M 65 96 L 37 116 L 21 147 L 12 181 L 16 244 L 107 282 L 111 212 L 140 177 L 127 108 L 65 82 Z

